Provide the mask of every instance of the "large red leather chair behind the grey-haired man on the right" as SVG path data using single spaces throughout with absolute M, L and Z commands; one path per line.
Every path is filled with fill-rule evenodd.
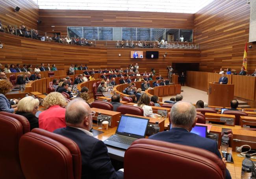
M 163 166 L 171 167 L 166 170 Z M 225 170 L 225 164 L 215 153 L 160 140 L 135 140 L 124 154 L 124 178 L 129 179 L 169 175 L 172 178 L 224 179 Z

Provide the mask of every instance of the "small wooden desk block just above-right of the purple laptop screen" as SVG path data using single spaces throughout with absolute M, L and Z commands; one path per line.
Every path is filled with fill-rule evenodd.
M 204 114 L 206 123 L 208 122 L 220 122 L 224 123 L 225 125 L 235 125 L 235 115 L 228 115 L 228 114 L 216 114 L 216 113 L 205 113 Z M 225 120 L 225 119 L 232 119 L 232 120 Z

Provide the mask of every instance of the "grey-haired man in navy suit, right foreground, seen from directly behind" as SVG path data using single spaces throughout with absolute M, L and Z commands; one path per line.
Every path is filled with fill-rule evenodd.
M 226 159 L 221 157 L 218 144 L 215 140 L 190 133 L 192 128 L 195 127 L 196 122 L 196 109 L 191 103 L 176 103 L 171 110 L 172 128 L 170 131 L 160 132 L 149 138 L 206 149 L 215 153 L 224 163 L 226 163 Z M 228 170 L 226 170 L 226 179 L 231 179 Z

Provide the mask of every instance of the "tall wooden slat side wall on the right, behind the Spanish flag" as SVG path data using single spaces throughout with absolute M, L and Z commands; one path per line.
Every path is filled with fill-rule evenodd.
M 250 5 L 247 0 L 215 0 L 195 14 L 194 42 L 200 43 L 200 71 L 222 68 L 240 71 L 249 41 Z M 251 43 L 248 44 L 252 45 Z M 248 70 L 256 66 L 256 46 L 248 48 Z

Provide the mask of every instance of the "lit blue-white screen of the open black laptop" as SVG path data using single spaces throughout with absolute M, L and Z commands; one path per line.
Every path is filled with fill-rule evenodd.
M 132 116 L 122 116 L 117 131 L 144 136 L 148 127 L 148 119 L 134 118 Z

